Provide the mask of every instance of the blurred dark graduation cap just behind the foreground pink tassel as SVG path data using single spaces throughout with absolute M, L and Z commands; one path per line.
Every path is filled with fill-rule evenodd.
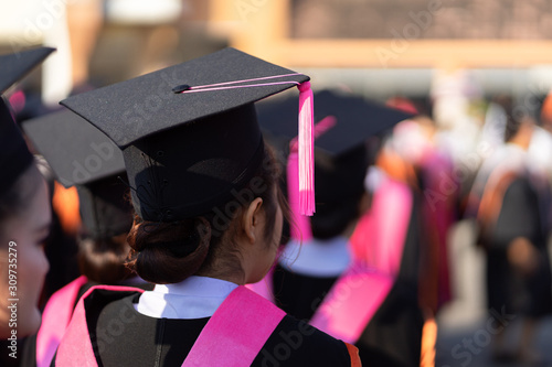
M 296 136 L 293 116 L 297 106 L 289 99 L 258 104 L 259 125 L 268 139 L 291 141 Z M 335 206 L 359 197 L 364 191 L 364 176 L 369 162 L 367 141 L 412 117 L 397 109 L 371 102 L 362 97 L 322 90 L 315 94 L 315 121 L 329 117 L 335 123 L 315 140 L 316 202 L 318 212 L 331 216 Z M 288 177 L 289 179 L 289 177 Z M 293 180 L 293 177 L 291 177 Z M 294 203 L 290 195 L 290 206 Z M 296 216 L 308 239 L 308 228 Z M 307 236 L 305 235 L 307 234 Z M 297 238 L 297 235 L 294 236 Z

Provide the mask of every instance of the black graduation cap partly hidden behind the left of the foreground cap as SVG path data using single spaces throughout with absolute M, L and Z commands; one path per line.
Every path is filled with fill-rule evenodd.
M 88 235 L 109 238 L 130 229 L 123 153 L 105 133 L 70 110 L 23 121 L 22 127 L 57 181 L 76 185 Z

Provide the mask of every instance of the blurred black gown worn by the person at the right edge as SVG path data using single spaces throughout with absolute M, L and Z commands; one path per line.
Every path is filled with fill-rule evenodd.
M 528 177 L 518 177 L 508 186 L 487 249 L 487 296 L 489 310 L 539 317 L 552 311 L 552 279 L 543 230 L 542 201 Z M 528 238 L 538 251 L 539 265 L 531 274 L 517 271 L 507 249 L 516 237 Z

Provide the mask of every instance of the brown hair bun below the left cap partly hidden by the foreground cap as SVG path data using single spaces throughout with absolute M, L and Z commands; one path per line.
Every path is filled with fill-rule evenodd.
M 130 251 L 127 234 L 110 238 L 78 240 L 78 269 L 88 280 L 100 284 L 117 284 L 132 273 L 125 266 Z

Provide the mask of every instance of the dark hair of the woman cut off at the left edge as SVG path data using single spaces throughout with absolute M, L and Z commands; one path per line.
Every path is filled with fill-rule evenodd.
M 32 202 L 41 176 L 36 165 L 32 163 L 6 192 L 0 194 L 0 235 L 8 218 L 21 215 Z

